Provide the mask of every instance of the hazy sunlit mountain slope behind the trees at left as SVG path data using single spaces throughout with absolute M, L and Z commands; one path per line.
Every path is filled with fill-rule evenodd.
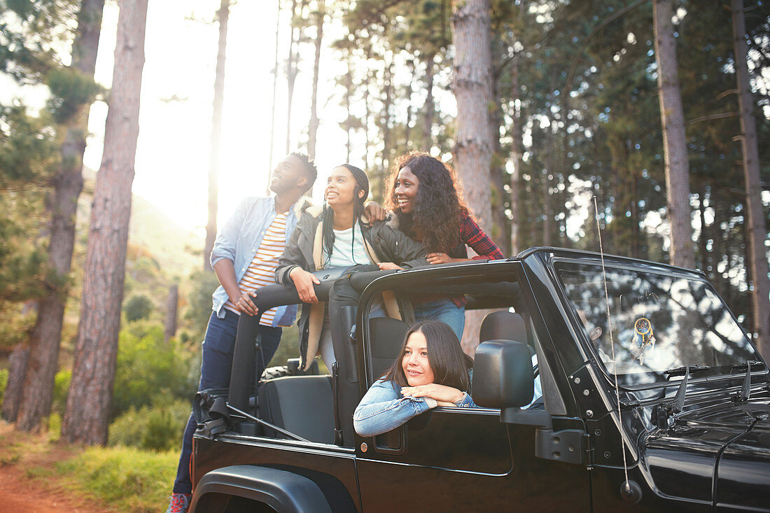
M 79 231 L 88 235 L 91 202 L 96 172 L 83 168 L 85 185 L 78 201 Z M 158 207 L 142 196 L 133 195 L 129 246 L 138 246 L 149 253 L 166 276 L 187 277 L 201 268 L 203 238 L 169 219 Z

